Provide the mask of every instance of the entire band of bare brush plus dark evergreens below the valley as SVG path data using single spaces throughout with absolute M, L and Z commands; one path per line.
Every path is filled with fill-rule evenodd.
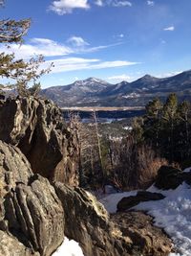
M 155 98 L 145 110 L 145 115 L 132 120 L 132 130 L 123 137 L 116 134 L 116 139 L 102 132 L 96 113 L 91 124 L 75 119 L 81 186 L 147 188 L 161 165 L 184 168 L 191 164 L 191 104 L 179 103 L 171 93 L 164 103 Z

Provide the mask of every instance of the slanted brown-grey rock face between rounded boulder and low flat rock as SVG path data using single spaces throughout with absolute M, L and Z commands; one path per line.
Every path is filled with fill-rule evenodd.
M 53 186 L 65 212 L 65 234 L 81 245 L 85 256 L 134 255 L 129 237 L 121 236 L 120 230 L 94 196 L 60 182 Z

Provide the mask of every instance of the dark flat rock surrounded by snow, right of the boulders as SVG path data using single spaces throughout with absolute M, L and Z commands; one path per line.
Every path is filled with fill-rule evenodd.
M 152 193 L 149 191 L 138 191 L 136 196 L 125 197 L 119 200 L 117 203 L 117 211 L 125 211 L 136 205 L 141 201 L 150 201 L 150 200 L 161 200 L 165 198 L 160 193 Z

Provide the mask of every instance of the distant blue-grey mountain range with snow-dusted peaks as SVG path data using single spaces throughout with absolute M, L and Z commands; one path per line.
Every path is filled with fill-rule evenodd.
M 180 100 L 191 100 L 191 70 L 169 78 L 150 75 L 137 81 L 112 84 L 96 78 L 74 81 L 43 89 L 41 94 L 60 107 L 67 106 L 141 106 L 154 97 L 165 100 L 175 92 Z

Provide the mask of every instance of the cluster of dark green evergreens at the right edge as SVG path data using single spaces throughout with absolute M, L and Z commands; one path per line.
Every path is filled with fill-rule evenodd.
M 150 145 L 170 163 L 184 167 L 191 157 L 191 104 L 171 93 L 165 103 L 158 98 L 145 107 L 146 114 L 134 120 L 137 143 Z

